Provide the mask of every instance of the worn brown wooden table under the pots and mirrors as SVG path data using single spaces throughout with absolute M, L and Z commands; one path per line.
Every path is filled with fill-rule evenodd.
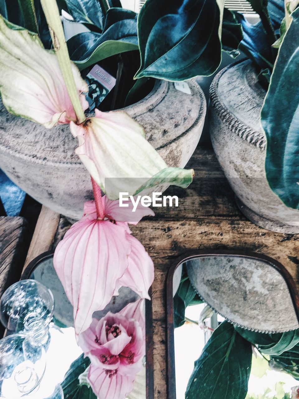
M 299 235 L 272 233 L 248 221 L 238 210 L 234 194 L 211 148 L 198 147 L 187 167 L 195 180 L 186 190 L 171 187 L 179 207 L 155 208 L 132 232 L 155 264 L 152 286 L 155 398 L 166 399 L 165 279 L 175 259 L 188 250 L 238 249 L 268 255 L 281 262 L 299 288 Z M 158 209 L 158 211 L 157 211 Z M 26 265 L 43 251 L 54 249 L 70 224 L 42 209 Z

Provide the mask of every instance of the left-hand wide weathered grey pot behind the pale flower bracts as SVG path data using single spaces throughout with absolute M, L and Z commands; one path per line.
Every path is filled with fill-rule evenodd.
M 191 94 L 156 81 L 147 97 L 124 109 L 144 127 L 168 166 L 187 164 L 203 129 L 205 97 L 195 81 L 188 85 Z M 37 201 L 74 219 L 92 198 L 89 174 L 74 153 L 77 146 L 68 125 L 45 129 L 10 115 L 0 103 L 0 168 Z

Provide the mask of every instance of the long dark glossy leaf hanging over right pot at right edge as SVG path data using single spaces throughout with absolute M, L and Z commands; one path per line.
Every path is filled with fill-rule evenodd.
M 266 176 L 285 205 L 299 209 L 299 91 L 294 82 L 299 69 L 299 9 L 285 34 L 262 108 L 267 138 Z M 291 101 L 290 101 L 291 99 Z

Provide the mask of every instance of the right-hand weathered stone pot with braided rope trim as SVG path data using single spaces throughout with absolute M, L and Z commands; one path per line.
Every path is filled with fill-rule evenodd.
M 210 87 L 212 145 L 244 215 L 271 231 L 299 233 L 299 211 L 286 207 L 266 180 L 265 95 L 250 61 L 222 69 Z

